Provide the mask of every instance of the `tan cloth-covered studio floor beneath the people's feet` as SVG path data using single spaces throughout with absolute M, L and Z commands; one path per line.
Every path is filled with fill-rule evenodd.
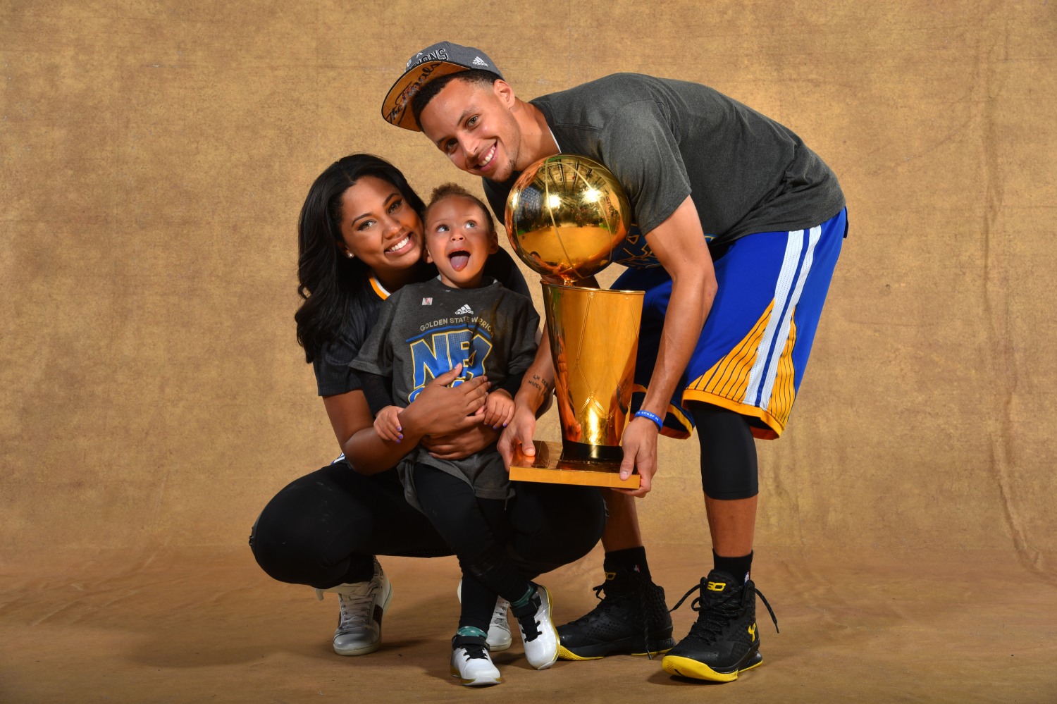
M 654 548 L 669 606 L 701 576 L 689 548 Z M 1013 552 L 759 558 L 763 666 L 737 682 L 675 680 L 619 656 L 531 669 L 504 683 L 448 674 L 453 558 L 385 558 L 394 596 L 383 647 L 330 650 L 334 595 L 270 579 L 248 550 L 99 554 L 2 568 L 0 701 L 30 702 L 1057 702 L 1057 586 Z M 591 608 L 600 553 L 540 579 L 564 623 Z M 689 627 L 689 603 L 674 614 Z

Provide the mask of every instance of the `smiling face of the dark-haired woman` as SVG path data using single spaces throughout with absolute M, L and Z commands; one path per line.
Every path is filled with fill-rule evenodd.
M 341 238 L 352 253 L 386 281 L 422 259 L 422 220 L 396 186 L 363 177 L 341 194 Z

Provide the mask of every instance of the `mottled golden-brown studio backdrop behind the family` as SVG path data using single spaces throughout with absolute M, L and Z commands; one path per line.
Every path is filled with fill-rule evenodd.
M 5 574 L 248 559 L 263 503 L 337 453 L 294 339 L 296 217 L 353 151 L 423 192 L 479 188 L 379 117 L 442 38 L 486 51 L 523 98 L 616 71 L 705 82 L 840 178 L 851 233 L 811 368 L 785 437 L 760 444 L 759 553 L 1001 551 L 1052 589 L 1046 2 L 6 0 Z M 696 447 L 662 445 L 651 544 L 705 535 Z

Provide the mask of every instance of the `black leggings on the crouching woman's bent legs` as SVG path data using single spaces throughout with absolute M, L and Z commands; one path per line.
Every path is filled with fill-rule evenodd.
M 518 570 L 537 575 L 573 562 L 606 523 L 593 487 L 518 484 L 506 506 L 503 544 Z M 451 555 L 447 542 L 404 499 L 393 470 L 370 477 L 338 462 L 291 482 L 254 524 L 249 545 L 270 576 L 327 589 L 370 579 L 375 555 Z

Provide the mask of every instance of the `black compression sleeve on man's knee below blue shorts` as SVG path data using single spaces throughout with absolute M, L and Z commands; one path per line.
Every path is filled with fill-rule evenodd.
M 711 404 L 687 405 L 701 442 L 701 485 L 710 499 L 749 499 L 759 493 L 756 443 L 748 421 Z

